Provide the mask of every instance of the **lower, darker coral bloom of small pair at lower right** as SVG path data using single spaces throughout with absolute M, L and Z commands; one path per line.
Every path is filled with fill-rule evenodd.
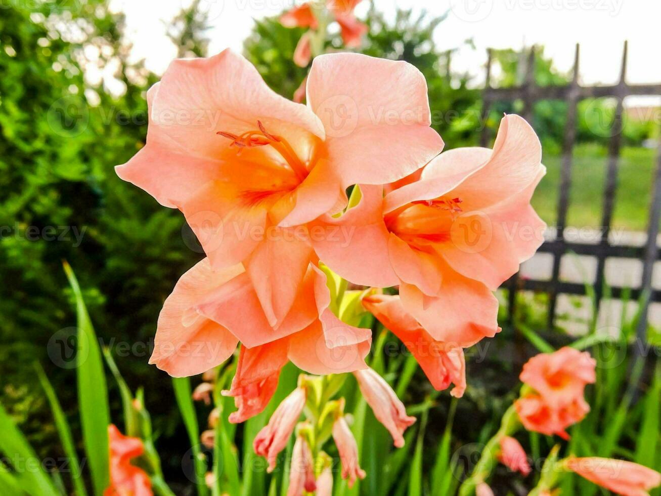
M 590 405 L 583 397 L 577 397 L 571 403 L 558 407 L 549 405 L 538 394 L 529 394 L 517 399 L 514 401 L 514 408 L 528 431 L 547 436 L 557 434 L 563 439 L 569 439 L 565 429 L 582 421 L 590 411 Z

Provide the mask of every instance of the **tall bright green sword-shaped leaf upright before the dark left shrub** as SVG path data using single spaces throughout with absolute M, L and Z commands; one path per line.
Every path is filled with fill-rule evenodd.
M 83 442 L 92 473 L 94 493 L 102 496 L 110 483 L 110 464 L 108 448 L 108 388 L 103 371 L 101 350 L 97 335 L 85 307 L 83 293 L 69 264 L 64 264 L 64 271 L 76 300 L 78 315 L 78 344 L 76 351 L 78 405 L 83 426 Z

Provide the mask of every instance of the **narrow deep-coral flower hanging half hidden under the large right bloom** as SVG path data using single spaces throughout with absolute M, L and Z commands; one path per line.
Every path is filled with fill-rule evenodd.
M 451 383 L 450 392 L 461 397 L 466 390 L 466 363 L 463 349 L 436 341 L 408 313 L 399 296 L 374 294 L 363 298 L 363 306 L 393 332 L 407 347 L 420 364 L 423 372 L 434 386 L 442 391 Z

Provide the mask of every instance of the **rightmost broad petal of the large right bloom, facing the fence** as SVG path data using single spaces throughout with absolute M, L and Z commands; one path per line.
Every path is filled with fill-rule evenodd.
M 529 203 L 543 172 L 520 196 L 458 216 L 450 231 L 452 242 L 438 253 L 457 272 L 498 288 L 544 241 L 546 224 Z

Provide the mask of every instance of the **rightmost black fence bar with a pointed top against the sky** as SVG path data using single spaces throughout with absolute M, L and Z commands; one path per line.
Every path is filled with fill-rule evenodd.
M 595 279 L 596 302 L 594 308 L 594 319 L 596 321 L 599 313 L 599 304 L 603 296 L 603 272 L 605 268 L 605 251 L 609 247 L 609 233 L 611 231 L 611 222 L 613 220 L 613 206 L 615 205 L 615 188 L 617 187 L 617 165 L 619 162 L 619 151 L 622 142 L 622 112 L 623 101 L 627 95 L 627 42 L 624 42 L 622 54 L 622 67 L 620 71 L 619 84 L 617 85 L 615 98 L 615 116 L 611 126 L 611 140 L 608 147 L 608 165 L 606 171 L 606 181 L 603 188 L 603 211 L 602 211 L 602 238 L 600 239 L 600 250 L 597 255 L 597 276 Z

